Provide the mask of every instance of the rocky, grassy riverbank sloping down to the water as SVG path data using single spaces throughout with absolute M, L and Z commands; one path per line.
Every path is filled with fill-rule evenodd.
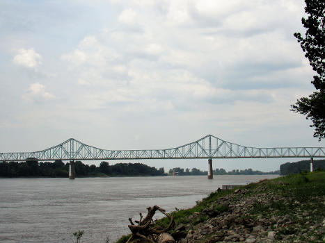
M 324 178 L 317 171 L 213 192 L 193 208 L 171 212 L 175 226 L 168 233 L 182 243 L 324 242 Z M 166 226 L 168 219 L 155 224 Z

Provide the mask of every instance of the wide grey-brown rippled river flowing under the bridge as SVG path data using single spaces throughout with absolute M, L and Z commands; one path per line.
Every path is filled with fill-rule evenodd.
M 72 243 L 79 229 L 81 242 L 115 242 L 148 206 L 189 208 L 221 185 L 276 176 L 1 178 L 0 242 Z

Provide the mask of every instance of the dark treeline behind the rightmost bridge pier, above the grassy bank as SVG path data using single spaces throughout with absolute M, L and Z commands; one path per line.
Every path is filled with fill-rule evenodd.
M 314 160 L 314 170 L 325 169 L 325 160 Z M 301 160 L 298 162 L 287 162 L 280 165 L 280 175 L 297 174 L 303 171 L 310 171 L 310 160 Z

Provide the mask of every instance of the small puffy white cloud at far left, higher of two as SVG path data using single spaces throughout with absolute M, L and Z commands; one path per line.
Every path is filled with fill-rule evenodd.
M 16 65 L 36 69 L 42 64 L 42 56 L 36 53 L 33 48 L 19 49 L 17 55 L 13 58 Z

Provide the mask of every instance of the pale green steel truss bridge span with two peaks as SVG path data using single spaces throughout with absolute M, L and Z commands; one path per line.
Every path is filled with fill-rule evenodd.
M 325 157 L 325 147 L 257 148 L 221 140 L 213 135 L 172 149 L 108 150 L 70 138 L 49 149 L 35 152 L 0 153 L 0 161 L 37 160 L 145 160 L 193 158 L 317 158 Z

